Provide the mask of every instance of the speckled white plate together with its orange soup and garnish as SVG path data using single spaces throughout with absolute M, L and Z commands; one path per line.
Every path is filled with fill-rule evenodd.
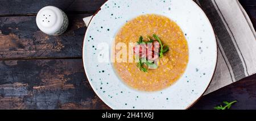
M 90 20 L 83 62 L 112 109 L 188 109 L 212 80 L 217 44 L 193 1 L 110 0 Z

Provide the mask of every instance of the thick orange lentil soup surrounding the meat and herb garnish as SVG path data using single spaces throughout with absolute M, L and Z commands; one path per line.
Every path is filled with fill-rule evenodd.
M 159 59 L 156 69 L 141 71 L 136 62 L 114 62 L 118 76 L 125 84 L 141 91 L 158 91 L 174 84 L 185 72 L 188 64 L 188 44 L 183 31 L 171 19 L 155 14 L 141 15 L 127 22 L 115 36 L 115 43 L 129 45 L 140 36 L 156 34 L 170 51 Z M 118 50 L 115 50 L 117 54 Z

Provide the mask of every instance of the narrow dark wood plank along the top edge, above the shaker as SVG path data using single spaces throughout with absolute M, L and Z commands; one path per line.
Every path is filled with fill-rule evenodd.
M 0 15 L 36 14 L 44 6 L 56 6 L 65 12 L 94 12 L 106 0 L 1 0 Z

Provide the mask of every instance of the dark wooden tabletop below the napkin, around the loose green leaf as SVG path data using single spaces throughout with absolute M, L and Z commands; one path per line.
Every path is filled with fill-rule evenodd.
M 223 101 L 234 100 L 238 102 L 231 109 L 256 109 L 256 74 L 205 95 L 191 109 L 212 110 L 215 106 L 223 105 Z

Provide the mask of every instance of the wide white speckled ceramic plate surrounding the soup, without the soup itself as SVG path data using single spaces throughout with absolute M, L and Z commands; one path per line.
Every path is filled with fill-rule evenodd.
M 115 34 L 127 20 L 144 14 L 174 20 L 188 41 L 189 62 L 185 73 L 174 85 L 161 91 L 131 89 L 119 80 L 110 62 L 97 60 L 101 54 L 98 44 L 106 43 L 110 48 Z M 217 44 L 207 16 L 192 0 L 109 0 L 90 21 L 84 39 L 83 61 L 93 90 L 112 109 L 187 109 L 201 97 L 212 80 Z

